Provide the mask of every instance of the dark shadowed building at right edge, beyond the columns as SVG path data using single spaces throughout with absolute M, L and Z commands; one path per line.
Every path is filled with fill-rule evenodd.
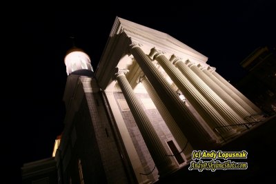
M 257 48 L 240 63 L 248 72 L 237 88 L 268 114 L 276 113 L 275 48 Z

